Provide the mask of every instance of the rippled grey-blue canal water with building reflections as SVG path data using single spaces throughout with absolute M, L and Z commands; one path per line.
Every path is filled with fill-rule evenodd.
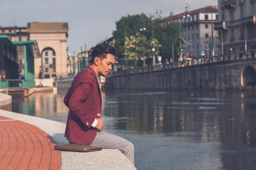
M 12 111 L 65 123 L 65 94 L 13 99 Z M 134 144 L 138 170 L 256 169 L 254 93 L 102 91 L 101 116 Z

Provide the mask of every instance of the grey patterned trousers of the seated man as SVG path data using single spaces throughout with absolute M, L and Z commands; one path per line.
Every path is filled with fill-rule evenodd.
M 70 141 L 69 143 L 74 144 Z M 89 145 L 102 147 L 103 149 L 118 149 L 134 164 L 134 145 L 122 137 L 104 131 L 98 131 L 95 139 Z

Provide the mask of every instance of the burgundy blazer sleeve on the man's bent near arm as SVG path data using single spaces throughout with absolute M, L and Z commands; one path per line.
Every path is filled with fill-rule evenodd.
M 92 81 L 81 83 L 77 86 L 69 100 L 70 110 L 73 111 L 87 127 L 90 127 L 95 121 L 93 115 L 90 114 L 90 106 L 86 107 L 86 105 L 84 105 L 91 91 Z

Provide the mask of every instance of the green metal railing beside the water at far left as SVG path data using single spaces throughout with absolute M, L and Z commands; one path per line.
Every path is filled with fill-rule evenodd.
M 35 87 L 35 80 L 28 79 L 0 79 L 0 89 L 2 88 L 31 88 Z

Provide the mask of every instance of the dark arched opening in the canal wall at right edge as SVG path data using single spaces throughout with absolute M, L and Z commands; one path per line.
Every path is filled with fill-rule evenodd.
M 241 85 L 256 85 L 256 71 L 250 65 L 247 65 L 241 74 Z

